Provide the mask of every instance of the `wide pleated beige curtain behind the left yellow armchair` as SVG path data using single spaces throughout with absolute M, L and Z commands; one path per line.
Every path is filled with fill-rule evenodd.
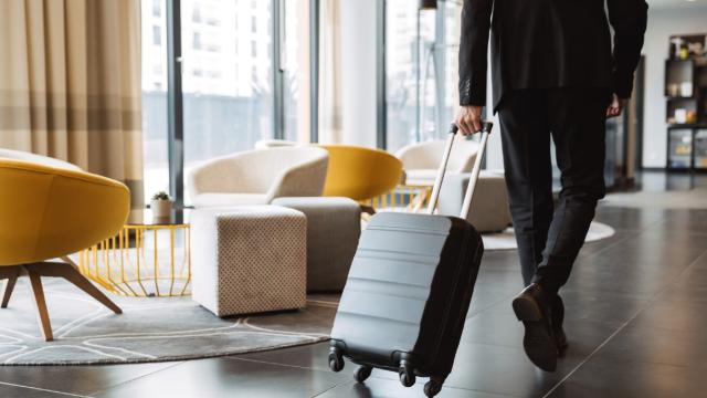
M 124 181 L 141 206 L 139 0 L 1 0 L 0 56 L 0 147 Z

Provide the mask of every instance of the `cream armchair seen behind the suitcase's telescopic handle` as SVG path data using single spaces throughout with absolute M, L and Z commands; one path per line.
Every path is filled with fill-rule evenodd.
M 457 136 L 450 155 L 447 174 L 454 175 L 471 171 L 474 167 L 477 151 L 477 143 L 466 140 L 461 135 Z M 432 186 L 443 154 L 443 140 L 411 144 L 398 150 L 395 156 L 402 160 L 405 170 L 404 182 L 411 186 Z

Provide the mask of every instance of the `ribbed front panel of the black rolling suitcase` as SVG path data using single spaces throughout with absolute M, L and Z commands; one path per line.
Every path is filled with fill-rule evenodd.
M 411 352 L 451 227 L 446 217 L 376 214 L 359 240 L 333 338 L 372 355 Z

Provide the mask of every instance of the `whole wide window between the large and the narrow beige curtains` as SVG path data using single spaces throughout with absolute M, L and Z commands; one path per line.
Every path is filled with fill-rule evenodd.
M 179 21 L 168 14 L 178 8 Z M 168 21 L 181 33 L 183 164 L 253 148 L 265 138 L 309 138 L 309 0 L 143 0 L 146 196 L 169 189 Z M 274 35 L 279 32 L 278 38 Z M 175 44 L 172 44 L 175 45 Z M 171 108 L 170 108 L 171 109 Z M 279 122 L 279 123 L 276 123 Z M 172 154 L 173 155 L 173 154 Z M 180 157 L 176 157 L 180 158 Z M 183 191 L 189 205 L 189 192 Z

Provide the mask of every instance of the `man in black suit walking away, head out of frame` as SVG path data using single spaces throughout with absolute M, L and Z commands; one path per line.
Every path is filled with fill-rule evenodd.
M 493 106 L 527 286 L 513 307 L 526 354 L 544 370 L 567 348 L 558 291 L 605 193 L 605 119 L 631 96 L 646 19 L 644 0 L 464 0 L 456 122 L 464 134 L 481 130 L 490 30 Z M 550 137 L 562 182 L 556 209 Z

